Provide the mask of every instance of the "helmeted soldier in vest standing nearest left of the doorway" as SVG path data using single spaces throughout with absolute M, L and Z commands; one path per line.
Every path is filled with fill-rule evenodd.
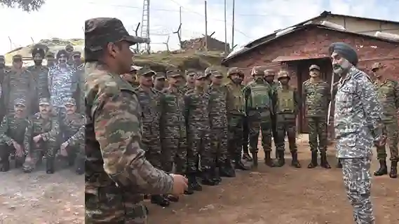
M 288 144 L 292 155 L 292 167 L 300 168 L 298 161 L 297 147 L 297 115 L 301 106 L 300 95 L 297 90 L 290 87 L 290 74 L 288 71 L 279 71 L 278 80 L 281 85 L 276 89 L 276 167 L 282 167 L 285 164 L 285 136 L 288 136 Z

